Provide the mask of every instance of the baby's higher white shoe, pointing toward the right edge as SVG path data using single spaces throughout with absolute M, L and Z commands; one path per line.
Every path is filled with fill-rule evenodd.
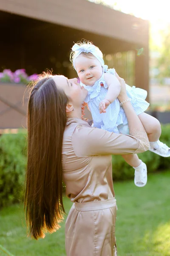
M 170 148 L 160 140 L 156 142 L 150 142 L 149 151 L 155 154 L 159 154 L 161 157 L 170 157 Z

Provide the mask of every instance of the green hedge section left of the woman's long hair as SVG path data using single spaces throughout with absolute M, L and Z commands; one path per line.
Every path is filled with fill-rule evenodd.
M 26 132 L 0 136 L 0 207 L 23 197 L 26 172 Z

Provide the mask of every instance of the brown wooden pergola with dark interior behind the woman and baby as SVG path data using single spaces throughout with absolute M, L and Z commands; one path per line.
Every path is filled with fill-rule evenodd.
M 105 55 L 143 48 L 141 55 L 135 54 L 134 85 L 148 91 L 147 20 L 87 0 L 1 0 L 0 29 L 0 71 L 25 68 L 31 75 L 48 68 L 75 76 L 69 54 L 73 42 L 84 38 Z

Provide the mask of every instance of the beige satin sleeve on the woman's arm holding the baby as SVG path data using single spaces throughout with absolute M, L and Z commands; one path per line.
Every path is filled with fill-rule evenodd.
M 77 141 L 81 143 L 81 147 Z M 124 135 L 81 125 L 76 127 L 72 135 L 72 145 L 75 154 L 79 157 L 105 154 L 136 154 L 149 149 L 149 141 L 144 129 L 134 129 L 130 131 L 130 135 Z

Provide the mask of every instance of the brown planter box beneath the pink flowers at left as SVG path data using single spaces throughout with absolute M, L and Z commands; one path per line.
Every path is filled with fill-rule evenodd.
M 0 129 L 26 128 L 27 105 L 24 84 L 0 83 Z

